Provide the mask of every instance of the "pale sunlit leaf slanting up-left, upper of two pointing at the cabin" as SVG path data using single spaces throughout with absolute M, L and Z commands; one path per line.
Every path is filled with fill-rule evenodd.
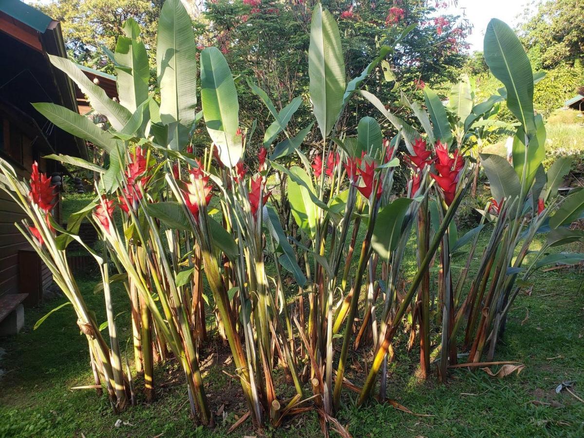
M 119 103 L 107 97 L 106 92 L 85 76 L 84 72 L 67 58 L 48 55 L 51 64 L 65 72 L 79 89 L 88 96 L 91 107 L 107 117 L 116 130 L 121 130 L 130 119 L 131 113 Z

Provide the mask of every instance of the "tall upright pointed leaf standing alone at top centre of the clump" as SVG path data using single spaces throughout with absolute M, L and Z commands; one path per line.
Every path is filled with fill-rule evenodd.
M 345 59 L 339 28 L 330 12 L 318 3 L 312 12 L 308 48 L 310 100 L 323 138 L 339 117 L 345 94 Z

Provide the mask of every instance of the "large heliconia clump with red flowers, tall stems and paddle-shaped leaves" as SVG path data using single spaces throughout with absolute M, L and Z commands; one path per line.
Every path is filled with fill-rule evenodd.
M 75 308 L 88 339 L 95 375 L 91 387 L 105 385 L 114 409 L 136 402 L 132 370 L 120 353 L 114 283 L 127 291 L 134 370 L 144 377 L 147 401 L 154 398 L 158 361 L 175 360 L 185 374 L 193 418 L 214 424 L 199 357 L 207 340 L 205 316 L 214 314 L 246 400 L 245 418 L 258 427 L 277 427 L 288 416 L 315 408 L 326 431 L 328 425 L 342 427 L 333 418 L 343 389 L 358 392 L 359 405 L 373 396 L 387 399 L 388 364 L 395 360 L 394 340 L 401 331 L 409 337 L 408 350 L 419 345 L 421 376 L 430 376 L 430 356 L 437 352 L 438 375 L 446 381 L 459 350 L 468 350 L 469 361 L 477 363 L 488 347 L 492 358 L 509 308 L 534 270 L 583 257 L 548 254 L 550 248 L 583 239 L 566 225 L 582 214 L 584 191 L 558 196 L 569 169 L 564 159 L 543 171 L 545 128 L 533 112 L 534 77 L 519 40 L 498 20 L 485 36 L 485 58 L 505 89 L 475 103 L 472 83 L 463 78 L 444 105 L 426 86 L 425 107 L 401 93 L 418 130 L 360 89 L 381 61 L 391 68 L 385 57 L 394 48 L 381 47 L 379 56 L 347 81 L 338 27 L 317 4 L 308 51 L 315 120 L 295 132 L 290 121 L 303 97 L 278 110 L 246 78 L 258 105 L 273 117 L 253 159 L 248 147 L 256 141 L 256 123 L 250 129 L 241 126 L 227 61 L 217 48 L 197 51 L 180 0 L 166 0 L 159 19 L 159 95 L 148 89 L 139 26 L 130 19 L 123 31 L 109 54 L 119 103 L 71 61 L 50 58 L 88 96 L 95 112 L 107 117 L 107 130 L 52 103 L 34 104 L 48 120 L 91 141 L 107 157 L 106 168 L 64 155 L 48 157 L 99 175 L 95 199 L 71 215 L 66 230 L 51 217 L 50 179 L 35 165 L 30 184 L 22 182 L 0 161 L 0 188 L 29 218 L 17 226 Z M 356 133 L 343 131 L 339 123 L 353 98 L 375 109 L 369 107 Z M 474 149 L 485 127 L 499 127 L 491 117 L 503 100 L 519 120 L 513 166 Z M 373 117 L 379 113 L 381 122 Z M 199 123 L 210 138 L 204 148 L 193 145 Z M 385 138 L 389 127 L 393 135 Z M 478 175 L 479 161 L 493 200 L 481 224 L 458 237 L 453 219 Z M 405 193 L 394 190 L 400 164 L 409 174 Z M 98 231 L 101 254 L 78 237 L 83 220 Z M 491 237 L 479 256 L 479 235 L 487 227 Z M 547 241 L 534 253 L 530 243 L 541 232 L 548 232 Z M 403 265 L 412 239 L 416 270 L 409 278 Z M 109 344 L 67 265 L 71 241 L 84 245 L 100 267 L 96 291 L 105 300 Z M 467 262 L 455 277 L 451 258 L 465 245 L 470 245 Z M 471 278 L 477 256 L 478 272 Z M 294 294 L 287 290 L 287 277 L 294 281 Z M 366 375 L 352 373 L 356 350 L 366 352 Z M 293 390 L 277 385 L 279 367 Z

